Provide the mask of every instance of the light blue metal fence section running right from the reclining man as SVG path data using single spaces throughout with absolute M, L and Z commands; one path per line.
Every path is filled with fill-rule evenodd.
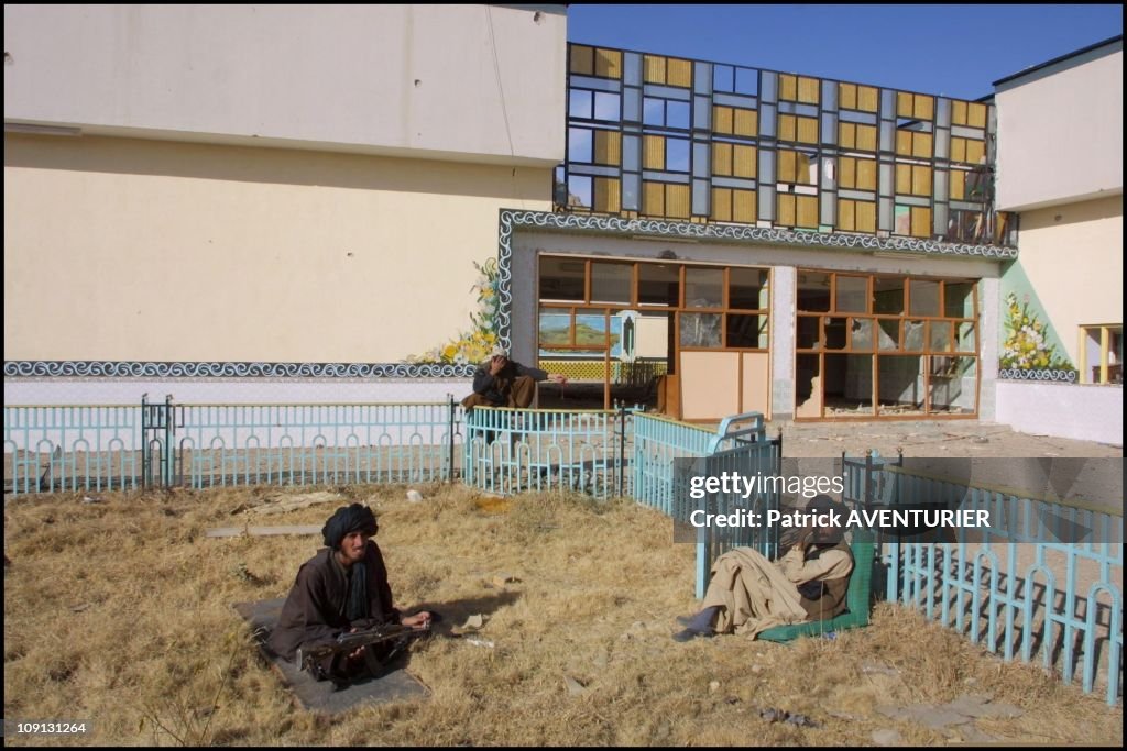
M 1122 690 L 1122 518 L 907 473 L 879 457 L 845 461 L 845 500 L 895 508 L 942 502 L 987 511 L 988 528 L 939 539 L 879 539 L 886 598 L 965 634 L 1005 660 L 1079 674 L 1084 691 Z M 1061 540 L 1061 526 L 1088 530 Z

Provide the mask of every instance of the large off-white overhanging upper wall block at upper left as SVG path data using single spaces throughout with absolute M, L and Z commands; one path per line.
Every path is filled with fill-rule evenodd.
M 562 6 L 6 5 L 3 15 L 6 123 L 564 159 Z

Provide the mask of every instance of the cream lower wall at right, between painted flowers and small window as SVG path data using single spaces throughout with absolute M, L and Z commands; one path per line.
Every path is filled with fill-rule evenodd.
M 1074 365 L 1080 325 L 1122 322 L 1122 196 L 1021 215 L 1021 268 Z

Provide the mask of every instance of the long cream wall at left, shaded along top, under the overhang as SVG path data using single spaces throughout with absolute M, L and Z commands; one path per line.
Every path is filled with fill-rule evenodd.
M 5 136 L 5 359 L 396 361 L 548 169 Z

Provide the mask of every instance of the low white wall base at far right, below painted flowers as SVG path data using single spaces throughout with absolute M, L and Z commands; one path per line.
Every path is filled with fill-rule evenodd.
M 996 393 L 995 420 L 1019 432 L 1122 446 L 1121 386 L 999 381 Z

